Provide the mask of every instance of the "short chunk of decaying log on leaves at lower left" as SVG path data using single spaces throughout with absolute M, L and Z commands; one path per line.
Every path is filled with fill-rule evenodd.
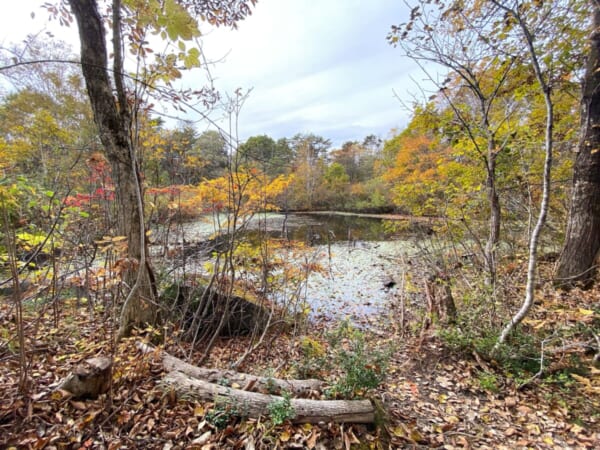
M 68 391 L 76 398 L 96 398 L 110 387 L 111 366 L 112 360 L 105 356 L 86 359 L 58 385 L 58 389 Z

